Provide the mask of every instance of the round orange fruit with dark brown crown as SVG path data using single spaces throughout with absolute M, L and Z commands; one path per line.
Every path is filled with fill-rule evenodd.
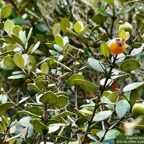
M 121 38 L 114 38 L 109 42 L 108 47 L 111 54 L 121 54 L 126 49 L 126 43 Z

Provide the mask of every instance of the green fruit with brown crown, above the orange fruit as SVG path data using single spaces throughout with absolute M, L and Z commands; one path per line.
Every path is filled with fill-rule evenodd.
M 128 31 L 128 32 L 130 32 L 130 33 L 132 33 L 132 31 L 133 31 L 133 27 L 132 27 L 132 25 L 130 24 L 130 23 L 128 23 L 127 21 L 125 21 L 125 22 L 119 22 L 119 30 L 124 30 L 124 31 Z

